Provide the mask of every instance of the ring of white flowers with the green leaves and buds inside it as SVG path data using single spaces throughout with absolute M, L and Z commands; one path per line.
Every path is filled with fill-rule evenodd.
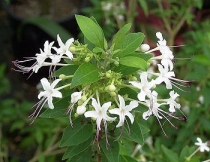
M 168 117 L 185 119 L 174 115 L 181 106 L 176 101 L 179 94 L 173 90 L 173 86 L 179 88 L 189 82 L 175 78 L 173 52 L 167 46 L 167 42 L 160 32 L 156 33 L 157 47 L 149 50 L 149 45 L 143 44 L 141 45 L 142 52 L 139 53 L 137 50 L 142 42 L 139 38 L 142 36 L 141 33 L 130 35 L 125 33 L 118 36 L 119 38 L 116 36 L 113 39 L 114 43 L 109 47 L 103 34 L 100 33 L 101 29 L 96 27 L 92 20 L 82 16 L 78 16 L 77 19 L 79 23 L 80 19 L 81 22 L 83 19 L 87 20 L 92 27 L 96 28 L 95 31 L 90 32 L 89 28 L 83 28 L 84 23 L 79 24 L 85 36 L 89 38 L 89 45 L 83 45 L 74 41 L 73 38 L 63 43 L 58 35 L 59 47 L 53 46 L 54 42 L 46 41 L 44 49 L 40 49 L 40 53 L 36 54 L 35 57 L 13 62 L 17 67 L 16 70 L 23 73 L 37 73 L 43 66 L 50 67 L 49 80 L 41 79 L 44 91 L 39 93 L 38 99 L 40 101 L 34 105 L 35 111 L 30 116 L 32 122 L 38 117 L 46 103 L 50 109 L 54 109 L 53 98 L 61 98 L 62 100 L 64 89 L 69 90 L 69 107 L 66 107 L 66 112 L 69 115 L 71 125 L 73 126 L 72 119 L 78 116 L 94 119 L 97 139 L 99 139 L 100 131 L 105 132 L 107 139 L 109 123 L 113 123 L 116 128 L 123 127 L 125 123 L 128 126 L 127 118 L 129 118 L 130 123 L 133 124 L 135 121 L 135 111 L 133 110 L 140 110 L 141 105 L 148 107 L 148 110 L 142 114 L 143 119 L 147 120 L 154 115 L 161 128 L 161 119 L 166 119 L 172 126 L 174 125 Z M 127 28 L 127 26 L 125 27 Z M 96 40 L 92 40 L 92 37 L 96 35 L 92 32 L 99 34 L 95 38 Z M 123 37 L 125 37 L 124 42 L 122 42 Z M 127 39 L 136 39 L 139 42 L 138 47 L 131 46 Z M 117 41 L 123 45 L 119 45 L 120 43 Z M 128 45 L 124 48 L 126 43 Z M 95 47 L 91 48 L 91 45 L 95 45 Z M 159 56 L 149 54 L 156 50 L 160 51 Z M 131 52 L 130 55 L 127 54 L 129 52 Z M 140 54 L 148 55 L 150 58 L 144 60 Z M 28 61 L 35 63 L 30 67 L 24 67 L 22 63 Z M 152 64 L 154 61 L 160 61 L 157 64 L 158 72 L 147 70 L 149 69 L 148 64 Z M 62 68 L 59 69 L 60 73 L 58 70 L 58 74 L 55 74 L 55 67 L 57 66 Z M 128 70 L 126 71 L 126 69 Z M 56 79 L 56 77 L 59 78 Z M 165 84 L 166 89 L 170 90 L 169 97 L 166 99 L 161 99 L 156 90 L 156 87 L 162 83 Z M 60 84 L 63 85 L 58 86 Z M 136 96 L 130 95 L 133 90 Z M 162 108 L 167 106 L 168 110 Z M 72 113 L 75 115 L 73 116 Z

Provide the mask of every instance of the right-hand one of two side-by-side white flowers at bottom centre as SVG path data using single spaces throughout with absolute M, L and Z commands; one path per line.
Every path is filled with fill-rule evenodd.
M 124 124 L 125 116 L 128 116 L 131 123 L 133 123 L 134 122 L 134 117 L 130 113 L 130 111 L 138 106 L 138 102 L 137 101 L 131 101 L 129 105 L 125 105 L 124 98 L 120 95 L 118 95 L 118 98 L 119 98 L 119 101 L 120 101 L 119 108 L 114 108 L 112 110 L 109 110 L 109 112 L 111 114 L 119 115 L 120 120 L 119 120 L 119 123 L 117 124 L 116 127 L 120 127 Z

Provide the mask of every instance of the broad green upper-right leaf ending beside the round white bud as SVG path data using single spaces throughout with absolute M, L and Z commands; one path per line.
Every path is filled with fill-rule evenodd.
M 125 36 L 124 40 L 120 44 L 120 52 L 116 53 L 114 57 L 124 57 L 133 53 L 143 42 L 143 33 L 129 33 Z

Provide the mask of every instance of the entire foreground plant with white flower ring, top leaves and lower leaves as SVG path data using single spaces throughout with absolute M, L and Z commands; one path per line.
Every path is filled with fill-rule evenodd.
M 59 47 L 46 41 L 35 57 L 13 62 L 17 71 L 31 74 L 49 66 L 49 80 L 41 79 L 43 91 L 30 122 L 46 104 L 50 109 L 42 117 L 69 117 L 60 143 L 61 147 L 68 147 L 63 159 L 136 161 L 125 146 L 129 142 L 143 145 L 149 131 L 143 120 L 155 116 L 165 135 L 162 121 L 175 127 L 170 118 L 185 120 L 184 114 L 175 116 L 181 106 L 173 87 L 181 89 L 189 82 L 175 78 L 173 52 L 160 32 L 156 33 L 157 47 L 150 50 L 149 45 L 142 44 L 143 33 L 128 33 L 131 24 L 107 41 L 94 18 L 76 15 L 76 20 L 84 44 L 73 38 L 63 43 L 58 35 Z M 153 55 L 154 51 L 159 55 Z M 27 61 L 34 63 L 25 67 Z M 56 71 L 58 66 L 61 68 Z M 158 95 L 160 84 L 168 91 L 167 98 Z

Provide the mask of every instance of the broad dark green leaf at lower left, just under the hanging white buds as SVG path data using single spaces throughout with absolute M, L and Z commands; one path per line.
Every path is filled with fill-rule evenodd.
M 77 118 L 73 121 L 73 128 L 68 125 L 64 130 L 60 146 L 74 146 L 86 141 L 93 133 L 93 126 L 83 118 Z

